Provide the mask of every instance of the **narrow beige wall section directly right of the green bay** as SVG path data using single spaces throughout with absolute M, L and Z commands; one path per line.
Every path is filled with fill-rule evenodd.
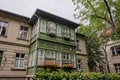
M 76 33 L 76 38 L 77 70 L 88 72 L 85 36 Z

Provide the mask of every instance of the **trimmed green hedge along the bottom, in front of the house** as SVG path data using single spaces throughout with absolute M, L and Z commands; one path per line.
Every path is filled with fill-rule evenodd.
M 35 80 L 120 80 L 117 73 L 43 71 L 36 74 Z

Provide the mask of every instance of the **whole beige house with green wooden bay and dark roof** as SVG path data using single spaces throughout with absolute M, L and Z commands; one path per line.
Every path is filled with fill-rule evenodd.
M 31 19 L 0 10 L 0 80 L 34 77 L 45 64 L 89 71 L 84 36 L 75 33 L 78 26 L 39 9 Z

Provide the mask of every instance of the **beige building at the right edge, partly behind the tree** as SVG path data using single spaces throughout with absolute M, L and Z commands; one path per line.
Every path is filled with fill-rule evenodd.
M 120 42 L 110 41 L 106 47 L 111 73 L 120 73 Z

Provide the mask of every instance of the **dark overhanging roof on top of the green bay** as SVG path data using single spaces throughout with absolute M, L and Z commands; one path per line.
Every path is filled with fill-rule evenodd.
M 59 17 L 57 15 L 48 13 L 48 12 L 40 10 L 40 9 L 37 9 L 35 11 L 32 18 L 29 21 L 30 24 L 33 25 L 37 21 L 36 15 L 39 16 L 39 17 L 42 17 L 42 18 L 45 18 L 45 19 L 60 23 L 60 24 L 64 24 L 66 26 L 71 26 L 71 27 L 74 27 L 74 28 L 77 28 L 79 26 L 78 23 L 75 23 L 73 21 L 67 20 L 65 18 Z

